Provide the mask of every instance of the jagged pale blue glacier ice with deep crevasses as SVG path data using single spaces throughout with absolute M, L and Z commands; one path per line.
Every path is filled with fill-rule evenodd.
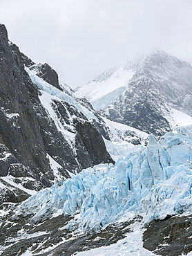
M 114 165 L 89 167 L 72 179 L 37 192 L 23 202 L 17 216 L 41 221 L 52 212 L 80 212 L 70 225 L 100 228 L 123 214 L 142 214 L 146 221 L 181 213 L 192 206 L 192 126 L 177 128 L 159 142 L 119 158 Z

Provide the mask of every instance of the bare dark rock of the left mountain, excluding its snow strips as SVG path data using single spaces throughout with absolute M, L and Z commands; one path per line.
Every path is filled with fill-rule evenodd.
M 63 177 L 69 176 L 68 171 L 79 172 L 90 165 L 113 162 L 106 152 L 102 136 L 83 114 L 66 102 L 52 102 L 61 122 L 69 124 L 68 113 L 77 117 L 73 124 L 70 123 L 76 136 L 77 150 L 70 145 L 41 104 L 40 91 L 30 80 L 24 64 L 35 68 L 39 77 L 61 89 L 57 73 L 48 64 L 36 65 L 23 55 L 15 44 L 8 42 L 6 28 L 1 25 L 0 176 L 8 173 L 17 178 L 29 176 L 45 188 L 55 179 L 48 155 L 61 165 L 59 173 Z M 83 120 L 82 125 L 78 118 Z M 85 142 L 87 134 L 90 137 Z M 26 187 L 32 188 L 33 183 L 30 185 L 28 182 Z M 34 185 L 34 189 L 39 190 L 39 185 Z

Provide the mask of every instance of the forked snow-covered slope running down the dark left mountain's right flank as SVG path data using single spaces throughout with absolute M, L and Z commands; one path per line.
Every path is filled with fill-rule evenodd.
M 68 143 L 70 143 L 71 147 L 74 149 L 75 129 L 72 121 L 74 118 L 76 118 L 76 116 L 69 117 L 68 124 L 66 122 L 64 123 L 64 120 L 61 120 L 61 118 L 59 119 L 57 111 L 55 111 L 55 100 L 62 100 L 74 106 L 80 113 L 83 113 L 84 116 L 86 116 L 86 118 L 93 123 L 93 125 L 99 124 L 102 129 L 106 130 L 107 136 L 104 136 L 104 142 L 108 152 L 115 161 L 120 156 L 126 156 L 130 150 L 134 150 L 134 147 L 136 150 L 141 145 L 146 144 L 148 134 L 146 134 L 144 131 L 137 130 L 133 127 L 128 127 L 127 125 L 113 122 L 107 118 L 99 116 L 99 113 L 97 113 L 94 109 L 88 108 L 86 104 L 81 104 L 81 102 L 78 101 L 78 98 L 75 98 L 73 94 L 68 95 L 65 91 L 55 88 L 55 86 L 48 84 L 41 77 L 38 77 L 34 69 L 30 70 L 29 68 L 26 68 L 26 71 L 30 75 L 32 82 L 41 90 L 41 95 L 39 95 L 41 104 L 48 111 L 50 118 L 54 120 L 58 131 L 61 131 Z M 84 119 L 81 119 L 80 116 L 79 120 L 84 122 Z M 70 124 L 70 122 L 72 123 Z

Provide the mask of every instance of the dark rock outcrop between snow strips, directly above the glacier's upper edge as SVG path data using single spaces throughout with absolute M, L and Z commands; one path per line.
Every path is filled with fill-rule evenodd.
M 59 148 L 57 152 L 57 156 L 59 156 L 59 158 L 57 157 L 57 162 L 59 164 L 67 165 L 66 168 L 70 168 L 70 170 L 74 169 L 75 165 L 77 165 L 77 162 L 74 161 L 74 156 L 77 158 L 80 170 L 99 163 L 114 163 L 111 156 L 106 152 L 101 134 L 99 134 L 93 124 L 88 122 L 83 113 L 77 111 L 74 106 L 67 102 L 59 100 L 52 102 L 52 108 L 55 110 L 55 113 L 57 113 L 58 120 L 66 127 L 66 130 L 75 135 L 73 154 L 63 152 L 63 155 L 66 155 L 66 158 L 64 158 L 61 154 L 64 149 Z M 76 118 L 70 121 L 72 116 Z M 73 130 L 70 127 L 73 127 Z M 52 153 L 52 149 L 54 149 L 54 145 L 50 148 L 50 153 Z M 62 161 L 64 161 L 64 163 L 62 163 Z M 77 172 L 79 172 L 77 167 L 76 169 Z

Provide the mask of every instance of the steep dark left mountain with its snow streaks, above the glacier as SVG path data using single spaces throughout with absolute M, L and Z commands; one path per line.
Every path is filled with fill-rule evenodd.
M 1 25 L 0 201 L 22 201 L 83 168 L 114 163 L 90 117 L 56 71 L 23 55 Z

